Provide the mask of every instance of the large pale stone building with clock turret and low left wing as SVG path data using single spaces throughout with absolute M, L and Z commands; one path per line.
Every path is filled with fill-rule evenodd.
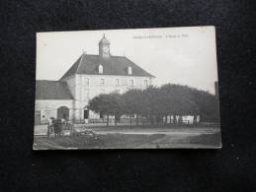
M 83 53 L 58 81 L 36 82 L 35 123 L 50 117 L 73 121 L 100 118 L 87 108 L 91 98 L 145 89 L 152 85 L 153 78 L 126 56 L 111 55 L 110 41 L 104 35 L 99 42 L 99 55 Z

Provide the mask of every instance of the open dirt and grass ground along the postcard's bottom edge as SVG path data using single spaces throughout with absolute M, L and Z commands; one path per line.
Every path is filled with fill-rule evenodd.
M 219 148 L 220 130 L 215 128 L 191 129 L 96 129 L 97 137 L 63 136 L 60 138 L 34 137 L 34 150 L 70 149 L 166 149 L 166 148 Z

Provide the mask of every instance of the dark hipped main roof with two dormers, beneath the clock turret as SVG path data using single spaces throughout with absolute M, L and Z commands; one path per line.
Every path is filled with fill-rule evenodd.
M 104 58 L 99 55 L 82 54 L 60 80 L 74 74 L 99 75 L 99 65 L 103 66 L 103 73 L 100 75 L 154 77 L 125 56 L 111 55 Z M 131 67 L 131 75 L 128 75 L 128 67 Z

